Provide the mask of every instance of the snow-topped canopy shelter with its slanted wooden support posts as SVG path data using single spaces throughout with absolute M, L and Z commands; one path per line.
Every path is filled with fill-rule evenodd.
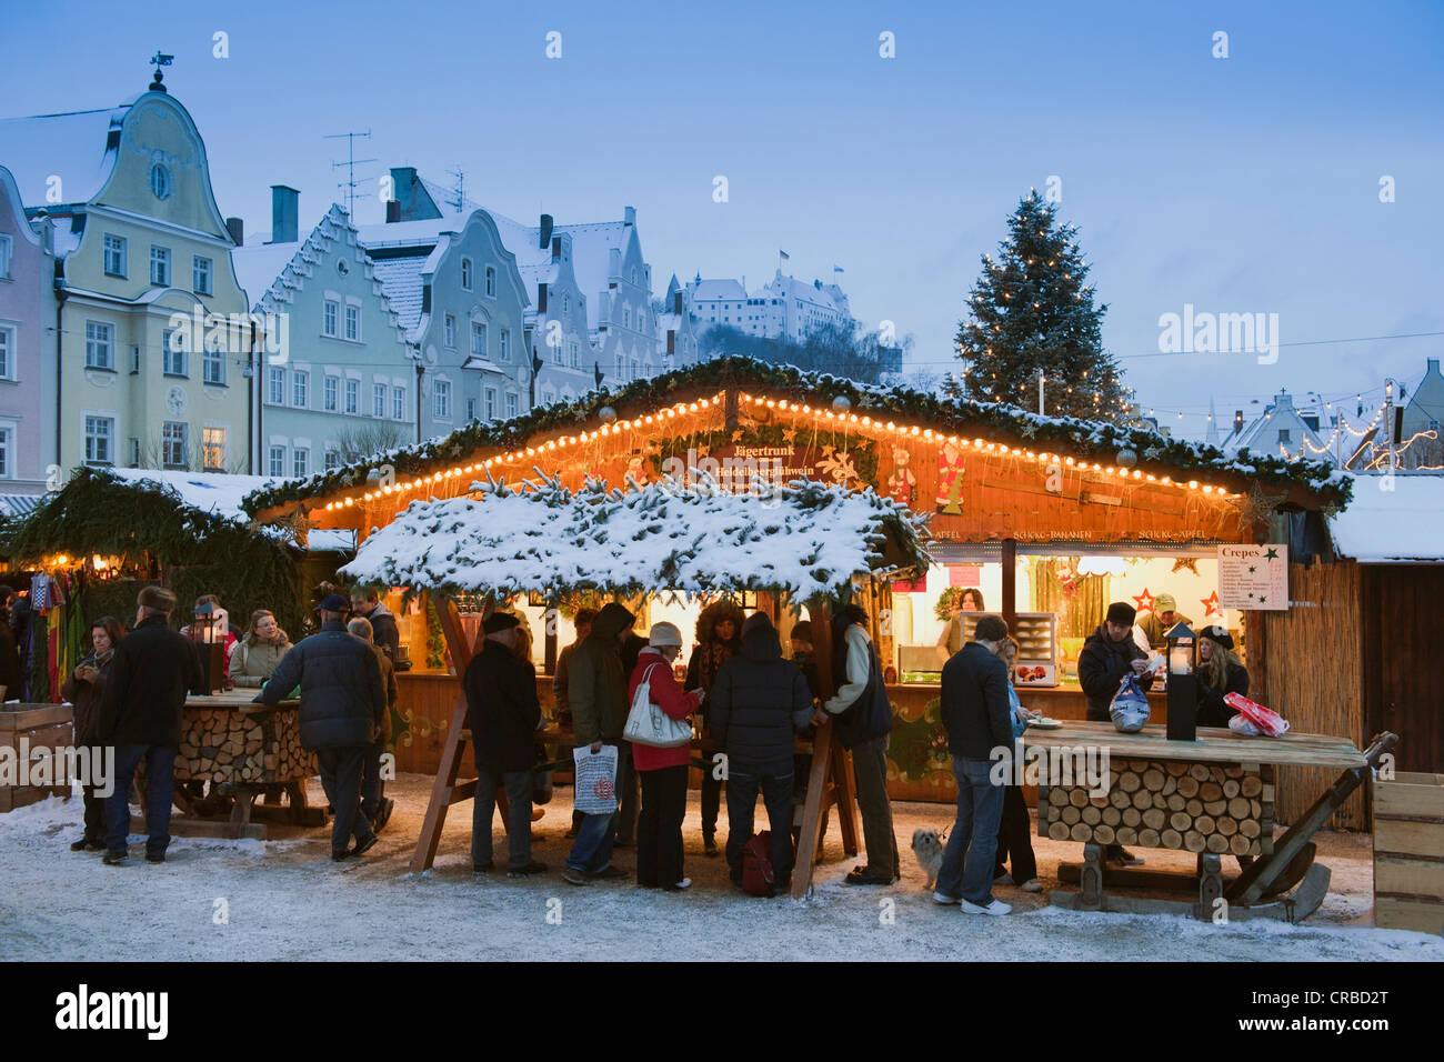
M 556 601 L 579 591 L 738 598 L 765 592 L 778 608 L 807 608 L 819 631 L 822 689 L 814 692 L 827 696 L 835 691 L 829 601 L 849 600 L 859 574 L 915 575 L 928 562 L 918 517 L 891 498 L 840 485 L 799 483 L 757 494 L 722 493 L 706 483 L 621 491 L 593 480 L 575 493 L 559 478 L 540 478 L 523 490 L 490 478 L 477 485 L 475 497 L 413 503 L 371 535 L 344 569 L 365 585 L 433 595 L 458 672 L 478 644 L 459 623 L 458 592 L 492 603 L 517 594 Z M 458 695 L 413 871 L 432 865 L 448 808 L 475 795 L 475 779 L 458 783 L 465 727 L 466 699 Z M 569 733 L 553 730 L 552 737 L 570 744 Z M 700 735 L 695 747 L 703 748 Z M 799 851 L 817 850 L 825 815 L 836 806 L 845 848 L 855 854 L 851 772 L 830 720 L 806 751 L 812 769 L 796 821 Z M 812 884 L 813 861 L 800 863 L 796 896 Z

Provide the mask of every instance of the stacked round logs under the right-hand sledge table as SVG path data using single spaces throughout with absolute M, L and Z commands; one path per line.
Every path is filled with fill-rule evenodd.
M 1274 850 L 1269 764 L 1126 760 L 1108 793 L 1038 786 L 1038 837 L 1190 852 L 1266 855 Z

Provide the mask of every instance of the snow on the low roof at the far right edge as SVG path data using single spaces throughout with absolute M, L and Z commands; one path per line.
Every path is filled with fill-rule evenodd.
M 1444 475 L 1354 475 L 1353 500 L 1328 522 L 1334 549 L 1360 564 L 1444 561 Z

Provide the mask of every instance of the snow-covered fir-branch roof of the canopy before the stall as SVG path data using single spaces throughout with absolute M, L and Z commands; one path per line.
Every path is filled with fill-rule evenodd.
M 529 484 L 530 485 L 530 484 Z M 846 587 L 855 572 L 927 565 L 923 519 L 874 491 L 797 481 L 774 496 L 654 483 L 572 493 L 477 484 L 482 497 L 413 501 L 341 571 L 362 582 L 471 592 L 576 590 L 801 597 Z M 884 546 L 894 549 L 884 561 Z

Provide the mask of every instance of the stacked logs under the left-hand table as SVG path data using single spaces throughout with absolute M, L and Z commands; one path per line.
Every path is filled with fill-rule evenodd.
M 315 757 L 300 747 L 295 711 L 250 715 L 198 708 L 183 712 L 178 779 L 264 783 L 315 773 Z

